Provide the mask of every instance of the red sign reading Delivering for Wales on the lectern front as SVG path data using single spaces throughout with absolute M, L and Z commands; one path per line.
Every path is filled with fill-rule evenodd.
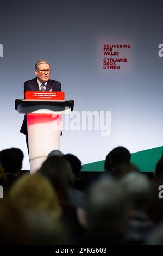
M 26 100 L 64 100 L 65 93 L 27 90 L 27 92 L 25 92 L 25 99 Z

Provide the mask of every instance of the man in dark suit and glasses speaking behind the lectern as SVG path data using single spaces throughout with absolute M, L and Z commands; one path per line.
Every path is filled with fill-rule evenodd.
M 45 59 L 37 60 L 35 65 L 36 78 L 28 80 L 24 83 L 24 98 L 27 90 L 35 91 L 61 91 L 61 83 L 55 80 L 49 79 L 51 74 L 50 64 Z M 26 135 L 26 143 L 28 148 L 28 132 L 27 132 L 27 118 L 26 115 L 23 120 L 23 124 L 20 130 L 21 133 Z

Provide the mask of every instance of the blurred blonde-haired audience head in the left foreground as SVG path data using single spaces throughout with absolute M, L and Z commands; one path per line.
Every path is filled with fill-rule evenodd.
M 24 174 L 11 187 L 9 198 L 22 211 L 45 211 L 54 217 L 61 216 L 58 203 L 51 182 L 40 174 Z

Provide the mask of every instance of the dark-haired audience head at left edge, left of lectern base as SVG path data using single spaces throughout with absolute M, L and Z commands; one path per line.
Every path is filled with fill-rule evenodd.
M 0 163 L 5 173 L 17 173 L 22 168 L 23 152 L 18 148 L 4 149 L 0 152 Z

